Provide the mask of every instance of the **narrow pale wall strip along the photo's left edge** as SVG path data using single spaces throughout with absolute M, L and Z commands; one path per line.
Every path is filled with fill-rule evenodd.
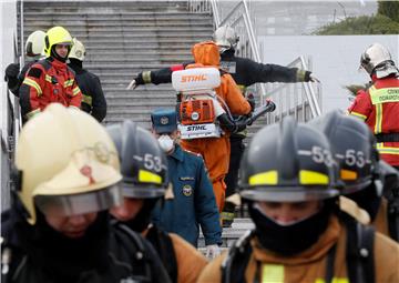
M 7 105 L 7 83 L 4 82 L 4 69 L 13 62 L 13 38 L 17 36 L 17 1 L 0 1 L 0 133 L 1 133 L 1 158 L 0 158 L 0 186 L 1 186 L 1 211 L 9 205 L 9 163 L 8 163 L 8 134 L 10 131 L 10 118 Z M 6 146 L 6 148 L 4 148 Z

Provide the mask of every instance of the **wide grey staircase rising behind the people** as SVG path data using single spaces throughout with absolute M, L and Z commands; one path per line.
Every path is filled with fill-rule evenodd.
M 84 68 L 98 74 L 109 104 L 105 123 L 132 119 L 150 127 L 150 112 L 174 107 L 170 84 L 125 88 L 143 70 L 192 61 L 191 47 L 209 40 L 208 13 L 190 13 L 186 1 L 24 2 L 24 37 L 54 26 L 86 47 Z

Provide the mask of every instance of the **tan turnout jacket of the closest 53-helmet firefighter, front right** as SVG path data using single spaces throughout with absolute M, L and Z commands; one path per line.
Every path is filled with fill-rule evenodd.
M 245 279 L 245 282 L 352 282 L 349 281 L 347 266 L 347 230 L 336 216 L 331 216 L 327 230 L 318 241 L 297 255 L 280 256 L 268 252 L 260 246 L 256 237 L 250 240 L 248 249 L 250 253 L 246 265 L 242 266 L 242 272 L 238 274 Z M 227 254 L 224 253 L 211 262 L 197 282 L 223 282 L 222 265 L 226 256 Z M 374 249 L 369 251 L 368 256 L 374 256 L 371 257 L 375 265 L 374 282 L 399 282 L 399 245 L 396 242 L 380 233 L 375 233 Z M 237 272 L 238 265 L 232 272 Z M 233 279 L 234 282 L 237 281 L 236 277 Z M 359 282 L 369 282 L 369 280 Z

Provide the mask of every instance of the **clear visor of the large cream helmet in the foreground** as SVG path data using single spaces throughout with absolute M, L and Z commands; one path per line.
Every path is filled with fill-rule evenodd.
M 80 194 L 37 195 L 34 203 L 44 215 L 71 216 L 108 210 L 122 203 L 119 185 Z

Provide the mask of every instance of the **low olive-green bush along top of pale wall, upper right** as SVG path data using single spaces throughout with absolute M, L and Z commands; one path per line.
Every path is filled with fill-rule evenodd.
M 377 16 L 361 16 L 347 18 L 338 23 L 321 27 L 314 34 L 317 36 L 347 36 L 347 34 L 398 34 L 399 22 L 390 18 Z

